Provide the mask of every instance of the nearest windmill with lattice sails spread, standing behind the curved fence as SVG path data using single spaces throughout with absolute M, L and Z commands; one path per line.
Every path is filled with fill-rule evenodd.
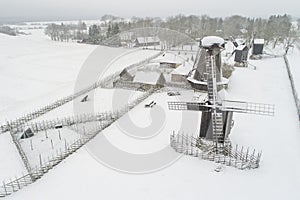
M 222 38 L 208 36 L 203 38 L 201 48 L 205 49 L 207 71 L 207 101 L 204 102 L 168 102 L 170 110 L 201 111 L 202 118 L 197 146 L 205 151 L 223 153 L 230 147 L 228 135 L 233 126 L 233 113 L 250 113 L 274 116 L 274 105 L 225 100 L 219 94 L 217 85 L 216 57 L 220 57 L 225 41 Z

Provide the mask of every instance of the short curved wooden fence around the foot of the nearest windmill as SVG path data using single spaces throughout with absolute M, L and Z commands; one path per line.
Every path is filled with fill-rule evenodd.
M 209 148 L 201 150 L 197 138 L 182 134 L 173 133 L 170 136 L 170 144 L 178 153 L 191 155 L 242 170 L 258 168 L 261 159 L 261 152 L 256 153 L 255 150 L 250 152 L 249 148 L 240 148 L 238 145 L 234 148 L 231 147 L 231 145 L 224 146 L 219 152 L 213 151 L 214 146 L 211 146 L 210 150 Z

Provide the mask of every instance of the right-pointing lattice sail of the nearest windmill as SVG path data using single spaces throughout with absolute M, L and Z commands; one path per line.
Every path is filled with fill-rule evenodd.
M 238 113 L 249 113 L 267 116 L 274 116 L 275 114 L 274 105 L 263 103 L 224 100 L 222 101 L 222 106 L 218 108 L 223 111 L 233 111 Z

